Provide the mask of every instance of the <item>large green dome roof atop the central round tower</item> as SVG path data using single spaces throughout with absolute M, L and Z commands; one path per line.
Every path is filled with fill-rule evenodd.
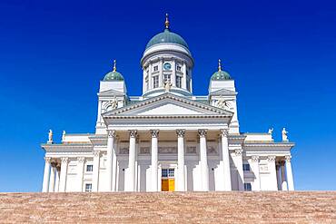
M 189 49 L 188 44 L 183 40 L 182 36 L 171 32 L 168 28 L 165 28 L 162 33 L 154 35 L 146 45 L 146 49 L 154 44 L 163 43 L 180 44 Z

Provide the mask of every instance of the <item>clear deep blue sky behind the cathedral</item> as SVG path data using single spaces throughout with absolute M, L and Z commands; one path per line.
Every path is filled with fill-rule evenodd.
M 140 59 L 165 13 L 192 51 L 194 93 L 207 94 L 221 58 L 241 131 L 274 127 L 280 141 L 286 127 L 296 189 L 336 190 L 331 1 L 2 0 L 0 191 L 41 190 L 49 129 L 55 141 L 63 130 L 94 132 L 99 81 L 114 58 L 128 93 L 142 93 Z

